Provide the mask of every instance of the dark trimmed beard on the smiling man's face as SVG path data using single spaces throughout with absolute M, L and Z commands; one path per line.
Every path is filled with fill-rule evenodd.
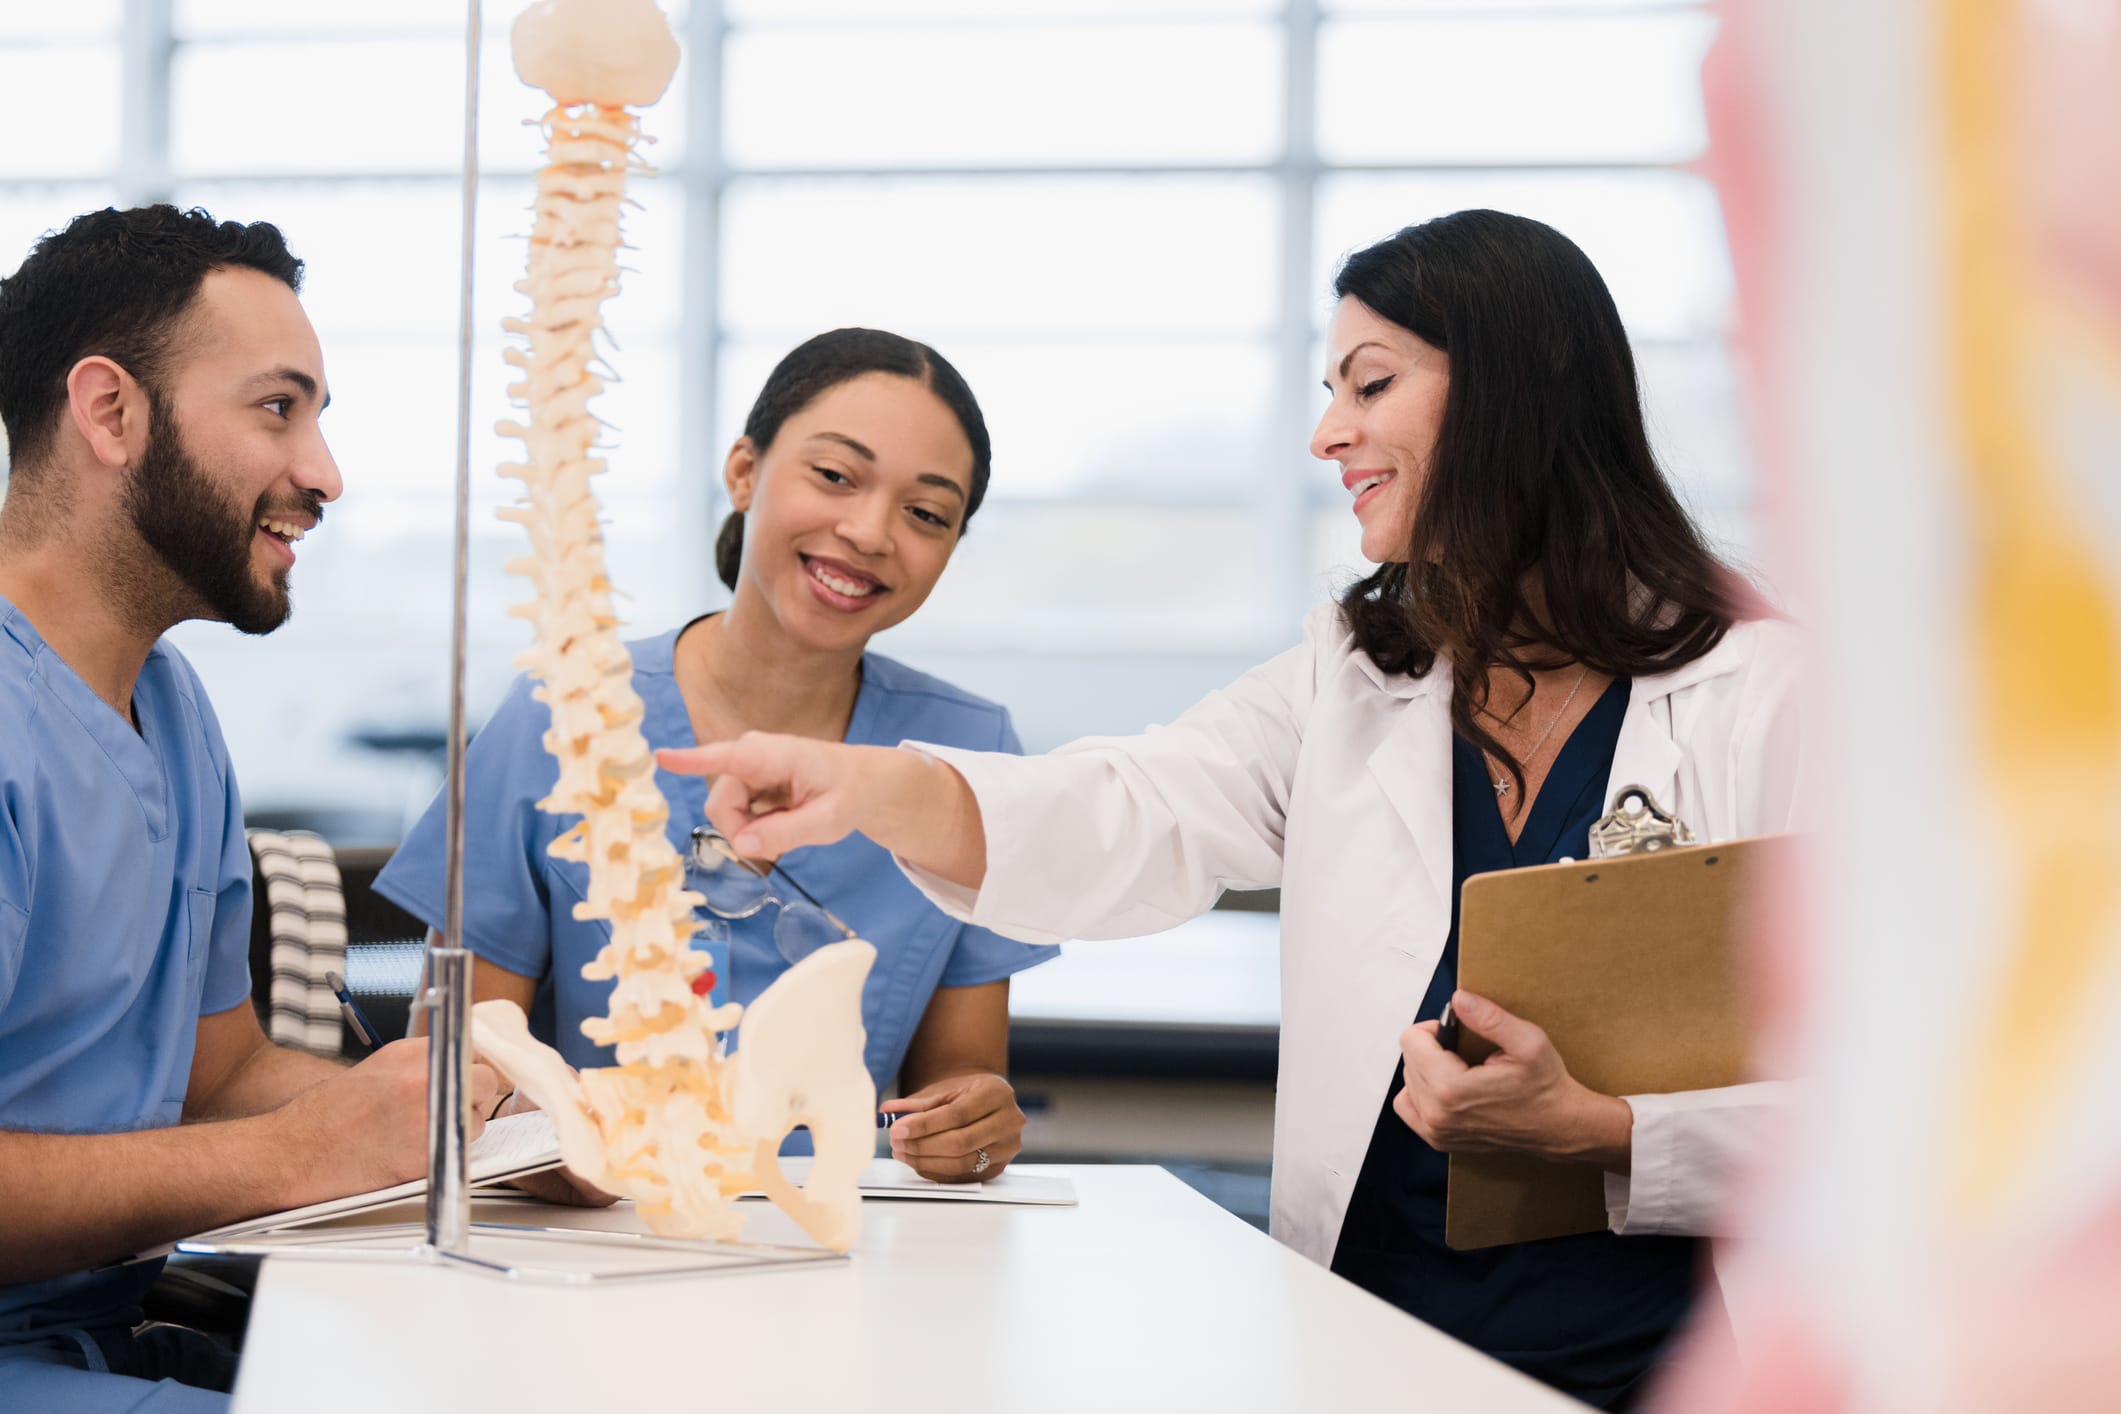
M 265 496 L 246 513 L 185 447 L 161 399 L 148 396 L 148 447 L 125 483 L 125 511 L 148 549 L 216 619 L 244 634 L 269 634 L 286 623 L 293 602 L 286 568 L 261 585 L 250 568 L 259 522 L 274 513 Z M 297 515 L 320 515 L 303 502 Z

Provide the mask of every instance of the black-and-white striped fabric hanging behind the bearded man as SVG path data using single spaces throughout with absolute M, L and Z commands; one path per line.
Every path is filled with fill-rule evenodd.
M 252 829 L 271 926 L 271 1020 L 278 1045 L 339 1056 L 339 998 L 325 973 L 346 971 L 346 895 L 331 846 L 308 831 Z

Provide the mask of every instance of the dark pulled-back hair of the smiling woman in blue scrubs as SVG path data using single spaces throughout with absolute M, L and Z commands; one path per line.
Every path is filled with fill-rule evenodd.
M 942 399 L 944 407 L 950 409 L 957 424 L 965 430 L 965 441 L 971 443 L 971 494 L 965 498 L 965 513 L 959 517 L 959 534 L 963 534 L 971 526 L 971 513 L 986 498 L 986 475 L 995 454 L 986 439 L 986 418 L 980 416 L 980 403 L 971 396 L 971 388 L 950 367 L 950 360 L 927 343 L 916 343 L 882 329 L 834 329 L 814 339 L 804 339 L 766 377 L 759 399 L 751 405 L 751 416 L 744 418 L 744 437 L 751 439 L 757 456 L 764 458 L 766 449 L 774 445 L 774 437 L 781 435 L 781 424 L 840 384 L 865 373 L 893 373 L 914 379 Z M 730 589 L 736 589 L 736 570 L 742 553 L 744 513 L 732 511 L 715 536 L 715 572 L 721 575 L 721 583 Z

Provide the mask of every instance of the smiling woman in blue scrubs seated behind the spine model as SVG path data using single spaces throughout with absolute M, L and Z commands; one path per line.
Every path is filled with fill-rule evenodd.
M 630 644 L 649 742 L 778 731 L 1022 750 L 1001 706 L 867 651 L 872 634 L 901 623 L 942 579 L 986 494 L 988 458 L 971 390 L 923 343 L 838 329 L 783 358 L 723 466 L 734 513 L 715 562 L 734 589 L 730 608 Z M 566 820 L 537 810 L 556 767 L 543 746 L 547 712 L 530 689 L 513 685 L 467 755 L 464 937 L 477 958 L 475 994 L 515 1001 L 571 1064 L 600 1066 L 609 1051 L 581 1035 L 581 1022 L 604 1013 L 611 984 L 585 982 L 581 967 L 609 941 L 609 926 L 575 918 L 583 865 L 547 854 Z M 670 842 L 685 852 L 706 786 L 668 772 L 658 784 L 670 801 Z M 437 799 L 375 888 L 439 926 L 441 867 Z M 744 914 L 728 918 L 728 954 L 713 943 L 721 996 L 751 1003 L 793 958 L 838 937 L 781 884 L 793 878 L 823 914 L 876 943 L 865 1058 L 880 1092 L 901 1088 L 884 1104 L 904 1115 L 893 1147 L 931 1179 L 999 1174 L 1024 1128 L 1003 1079 L 1010 975 L 1056 950 L 950 918 L 867 839 L 802 850 L 781 867 L 774 897 L 787 903 L 764 903 L 757 888 L 730 899 L 734 869 L 689 882 L 708 909 Z

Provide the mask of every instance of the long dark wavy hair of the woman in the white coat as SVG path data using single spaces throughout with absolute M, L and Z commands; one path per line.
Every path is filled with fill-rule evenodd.
M 1413 543 L 1340 596 L 1385 672 L 1451 664 L 1451 723 L 1480 725 L 1491 666 L 1669 672 L 1765 606 L 1650 454 L 1635 358 L 1597 269 L 1553 227 L 1455 212 L 1357 250 L 1334 278 L 1451 358 Z M 1536 594 L 1527 594 L 1527 585 Z

